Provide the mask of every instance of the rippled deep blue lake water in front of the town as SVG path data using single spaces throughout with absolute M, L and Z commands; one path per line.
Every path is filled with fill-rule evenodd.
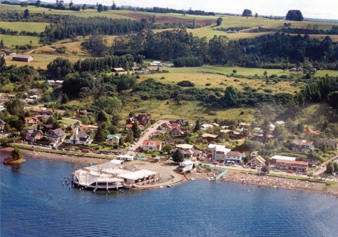
M 28 158 L 13 168 L 1 160 L 0 236 L 337 236 L 336 197 L 205 180 L 80 193 L 61 185 L 78 167 Z

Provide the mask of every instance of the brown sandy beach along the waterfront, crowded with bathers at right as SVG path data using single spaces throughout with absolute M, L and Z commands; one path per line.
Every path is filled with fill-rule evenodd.
M 6 147 L 1 148 L 1 152 L 11 152 L 13 148 Z M 20 149 L 23 155 L 29 156 L 31 158 L 43 158 L 49 160 L 60 160 L 66 162 L 79 163 L 83 165 L 88 165 L 88 163 L 105 163 L 110 159 L 105 158 L 88 158 L 88 157 L 79 157 L 79 156 L 70 156 L 70 155 L 57 155 L 46 152 L 38 152 L 38 151 L 30 151 L 25 149 Z M 182 175 L 178 173 L 174 173 L 175 175 L 171 175 L 171 179 L 165 180 L 162 183 L 156 183 L 154 185 L 147 185 L 145 187 L 138 187 L 135 190 L 147 190 L 147 189 L 160 189 L 171 187 L 173 185 L 178 185 L 186 180 Z M 186 174 L 187 178 L 190 179 L 211 179 L 212 172 L 206 169 L 198 169 L 198 171 L 193 171 L 192 173 Z M 253 175 L 248 174 L 246 172 L 228 172 L 221 179 L 221 182 L 233 182 L 233 183 L 241 183 L 243 185 L 255 185 L 265 188 L 277 188 L 277 189 L 287 189 L 287 190 L 296 190 L 299 192 L 308 191 L 308 192 L 319 192 L 322 194 L 334 195 L 338 197 L 338 185 L 328 186 L 326 190 L 323 189 L 325 187 L 325 183 L 319 183 L 312 180 L 299 180 L 299 179 L 291 179 L 287 177 L 274 177 L 268 175 Z

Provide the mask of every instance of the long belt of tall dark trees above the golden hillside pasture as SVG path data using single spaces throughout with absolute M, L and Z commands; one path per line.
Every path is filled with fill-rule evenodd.
M 200 57 L 207 64 L 230 64 L 246 67 L 289 68 L 289 64 L 338 69 L 338 43 L 330 37 L 323 41 L 276 33 L 254 39 L 228 40 L 225 36 L 194 37 L 184 29 L 152 31 L 117 38 L 114 50 L 130 50 L 159 60 Z

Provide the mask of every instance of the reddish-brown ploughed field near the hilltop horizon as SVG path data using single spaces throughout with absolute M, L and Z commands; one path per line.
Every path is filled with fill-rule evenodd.
M 149 20 L 150 17 L 152 17 L 152 15 L 148 15 L 148 14 L 141 14 L 141 13 L 115 13 L 117 15 L 122 15 L 122 16 L 127 16 L 130 18 L 134 18 L 136 20 L 141 20 L 142 18 L 145 18 L 147 20 Z M 156 14 L 154 14 L 156 15 Z M 193 23 L 193 19 L 186 19 L 186 18 L 179 18 L 179 17 L 174 17 L 174 16 L 159 16 L 156 15 L 156 23 L 159 24 L 164 24 L 164 23 L 185 23 L 185 24 L 192 24 Z M 200 25 L 200 26 L 205 26 L 209 23 L 215 23 L 215 20 L 211 20 L 211 19 L 205 19 L 205 20 L 196 20 L 196 25 Z

